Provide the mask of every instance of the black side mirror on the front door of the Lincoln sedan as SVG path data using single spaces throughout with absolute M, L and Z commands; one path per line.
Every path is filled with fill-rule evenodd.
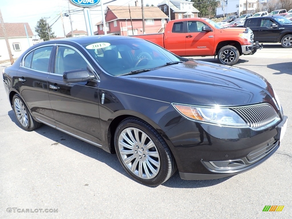
M 84 82 L 94 79 L 94 75 L 85 69 L 74 69 L 63 73 L 63 81 L 65 83 Z

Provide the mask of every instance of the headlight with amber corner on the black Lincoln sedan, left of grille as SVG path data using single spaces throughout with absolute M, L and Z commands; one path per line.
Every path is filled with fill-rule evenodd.
M 172 105 L 183 117 L 194 121 L 224 126 L 247 126 L 237 113 L 225 107 L 202 107 L 177 103 L 172 103 Z

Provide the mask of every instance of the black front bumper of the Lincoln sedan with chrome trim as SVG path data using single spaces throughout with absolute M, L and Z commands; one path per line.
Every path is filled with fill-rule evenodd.
M 277 125 L 254 131 L 185 120 L 166 134 L 180 177 L 207 180 L 237 175 L 263 163 L 279 148 L 286 124 L 284 116 Z

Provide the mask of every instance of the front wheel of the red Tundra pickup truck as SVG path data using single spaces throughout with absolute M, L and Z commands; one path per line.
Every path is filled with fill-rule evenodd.
M 223 46 L 217 58 L 223 65 L 234 65 L 239 59 L 239 51 L 234 46 Z

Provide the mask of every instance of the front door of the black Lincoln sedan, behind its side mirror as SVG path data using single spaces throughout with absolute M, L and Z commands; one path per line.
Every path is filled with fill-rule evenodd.
M 100 146 L 98 75 L 84 55 L 69 45 L 57 45 L 52 65 L 54 69 L 48 76 L 48 93 L 56 127 Z M 63 72 L 75 69 L 87 69 L 95 74 L 95 79 L 65 83 Z

